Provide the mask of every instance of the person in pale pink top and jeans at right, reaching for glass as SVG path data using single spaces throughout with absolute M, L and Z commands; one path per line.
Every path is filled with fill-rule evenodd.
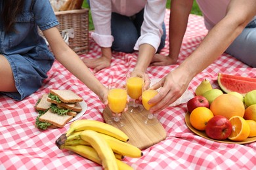
M 197 0 L 209 33 L 179 67 L 160 80 L 162 88 L 149 103 L 158 112 L 175 102 L 194 76 L 208 67 L 223 52 L 256 67 L 256 1 Z M 169 20 L 169 56 L 156 54 L 152 65 L 177 63 L 193 0 L 172 0 Z M 179 27 L 177 27 L 179 25 Z

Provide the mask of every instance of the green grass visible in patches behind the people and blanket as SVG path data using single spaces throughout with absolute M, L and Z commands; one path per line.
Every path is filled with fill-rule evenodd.
M 170 9 L 170 6 L 171 6 L 171 0 L 167 0 L 166 8 Z M 83 1 L 83 8 L 89 9 L 89 5 L 87 4 L 87 0 Z M 196 15 L 202 16 L 202 12 L 199 9 L 198 4 L 196 3 L 196 0 L 194 0 L 193 7 L 192 7 L 192 10 L 191 10 L 191 14 L 196 14 Z M 94 29 L 94 26 L 93 26 L 93 20 L 91 18 L 91 11 L 89 11 L 89 30 L 93 30 L 93 29 Z

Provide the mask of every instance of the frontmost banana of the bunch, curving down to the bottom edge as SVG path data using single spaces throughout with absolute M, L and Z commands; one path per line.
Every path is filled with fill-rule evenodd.
M 80 133 L 80 137 L 95 148 L 104 169 L 118 169 L 114 152 L 102 136 L 96 131 L 84 130 Z

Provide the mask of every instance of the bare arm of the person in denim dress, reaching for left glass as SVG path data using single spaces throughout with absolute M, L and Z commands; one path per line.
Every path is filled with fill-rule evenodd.
M 43 31 L 43 34 L 49 42 L 55 58 L 64 65 L 68 71 L 96 93 L 103 102 L 106 102 L 106 88 L 96 79 L 79 56 L 63 41 L 58 29 L 52 27 L 51 29 Z

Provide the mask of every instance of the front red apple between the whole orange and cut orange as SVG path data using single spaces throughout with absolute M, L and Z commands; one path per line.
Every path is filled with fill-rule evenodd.
M 213 116 L 205 127 L 205 133 L 211 139 L 227 139 L 231 132 L 232 124 L 226 117 L 221 115 Z

